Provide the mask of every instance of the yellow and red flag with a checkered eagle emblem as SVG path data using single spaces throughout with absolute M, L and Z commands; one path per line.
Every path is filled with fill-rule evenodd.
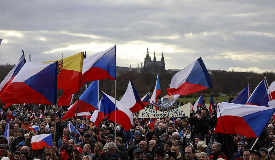
M 57 88 L 71 93 L 80 91 L 84 52 L 57 60 Z M 56 61 L 48 61 L 56 62 Z

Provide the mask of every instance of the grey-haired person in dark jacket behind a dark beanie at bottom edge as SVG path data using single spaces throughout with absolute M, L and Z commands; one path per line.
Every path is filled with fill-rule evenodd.
M 116 143 L 114 142 L 107 143 L 107 148 L 108 150 L 101 155 L 101 160 L 110 160 L 109 155 L 111 155 L 112 153 L 118 154 L 119 158 L 122 160 L 127 160 L 126 154 L 116 149 Z

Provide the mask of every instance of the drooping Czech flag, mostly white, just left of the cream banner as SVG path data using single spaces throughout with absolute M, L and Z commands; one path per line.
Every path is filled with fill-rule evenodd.
M 128 83 L 126 92 L 124 93 L 119 102 L 123 104 L 126 108 L 129 108 L 132 113 L 144 109 L 143 102 L 139 98 L 138 91 L 134 87 L 131 79 Z

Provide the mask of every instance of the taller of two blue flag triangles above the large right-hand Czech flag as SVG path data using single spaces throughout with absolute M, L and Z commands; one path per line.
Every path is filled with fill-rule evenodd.
M 247 105 L 259 105 L 268 107 L 269 97 L 266 90 L 265 80 L 263 79 L 255 88 L 248 101 Z

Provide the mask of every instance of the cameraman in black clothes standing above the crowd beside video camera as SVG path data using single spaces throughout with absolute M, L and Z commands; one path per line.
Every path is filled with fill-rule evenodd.
M 194 131 L 196 135 L 201 134 L 203 139 L 205 134 L 209 131 L 209 117 L 207 116 L 208 110 L 205 108 L 200 109 L 200 114 L 196 114 L 194 120 Z

